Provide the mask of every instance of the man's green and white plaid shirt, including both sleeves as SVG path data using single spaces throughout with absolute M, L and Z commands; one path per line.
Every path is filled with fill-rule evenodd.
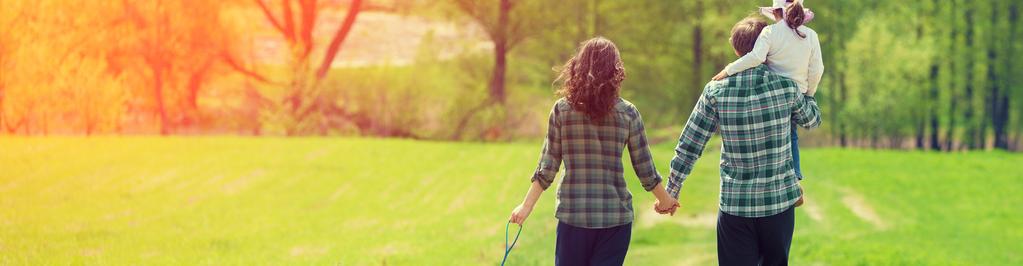
M 788 210 L 800 196 L 790 151 L 792 123 L 820 126 L 816 100 L 763 64 L 707 84 L 678 138 L 668 193 L 678 198 L 711 133 L 720 130 L 721 211 L 764 217 Z

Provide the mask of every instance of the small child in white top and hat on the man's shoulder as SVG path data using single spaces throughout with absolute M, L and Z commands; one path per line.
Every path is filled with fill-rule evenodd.
M 753 50 L 729 63 L 714 80 L 722 80 L 736 73 L 766 63 L 772 72 L 790 78 L 807 95 L 816 93 L 824 75 L 820 58 L 820 41 L 817 33 L 803 26 L 813 18 L 813 12 L 803 8 L 803 0 L 774 0 L 770 7 L 761 7 L 764 13 L 777 23 L 767 26 L 757 38 Z M 796 177 L 803 179 L 799 167 L 799 137 L 792 126 L 792 162 Z M 802 198 L 797 206 L 802 205 Z

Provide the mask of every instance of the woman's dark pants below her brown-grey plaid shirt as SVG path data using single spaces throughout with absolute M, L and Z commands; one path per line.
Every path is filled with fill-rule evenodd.
M 631 223 L 590 229 L 559 222 L 554 265 L 622 265 L 630 238 Z

